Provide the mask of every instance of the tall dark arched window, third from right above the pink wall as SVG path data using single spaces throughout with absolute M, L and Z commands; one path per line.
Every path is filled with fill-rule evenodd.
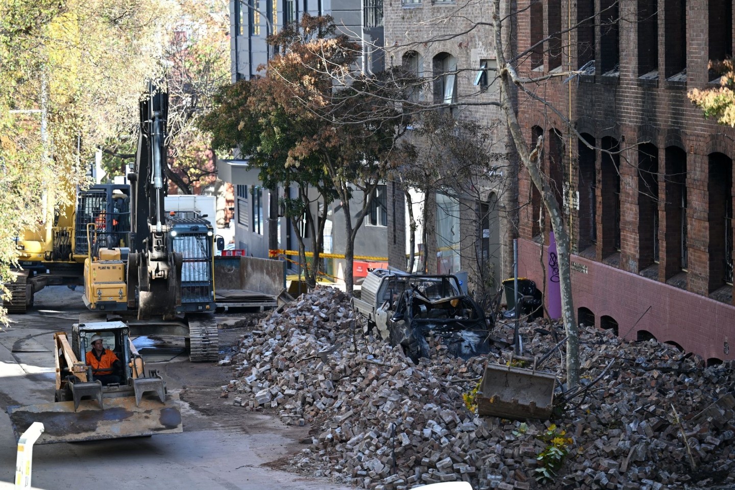
M 659 262 L 659 148 L 638 147 L 638 266 Z

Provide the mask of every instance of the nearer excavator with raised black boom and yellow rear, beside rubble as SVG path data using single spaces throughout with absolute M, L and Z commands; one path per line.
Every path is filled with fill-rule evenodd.
M 128 246 L 87 224 L 80 322 L 121 317 L 134 336 L 183 336 L 191 361 L 216 361 L 214 231 L 196 212 L 165 212 L 168 94 L 149 84 L 130 181 Z

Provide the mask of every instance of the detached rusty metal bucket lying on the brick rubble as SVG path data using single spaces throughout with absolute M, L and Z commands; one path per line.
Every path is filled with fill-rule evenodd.
M 477 392 L 478 414 L 504 419 L 551 417 L 553 372 L 487 364 Z

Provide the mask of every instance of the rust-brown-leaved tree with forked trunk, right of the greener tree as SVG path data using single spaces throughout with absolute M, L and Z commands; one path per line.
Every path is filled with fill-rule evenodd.
M 370 201 L 399 156 L 395 142 L 409 118 L 395 104 L 406 84 L 393 71 L 367 76 L 354 68 L 361 46 L 337 32 L 331 16 L 304 14 L 299 24 L 269 37 L 284 54 L 268 63 L 267 75 L 279 80 L 274 93 L 290 118 L 308 123 L 312 134 L 290 151 L 296 159 L 318 158 L 337 192 L 345 216 L 345 285 L 352 291 L 354 242 Z M 370 117 L 366 117 L 370 115 Z M 362 206 L 352 209 L 355 191 Z

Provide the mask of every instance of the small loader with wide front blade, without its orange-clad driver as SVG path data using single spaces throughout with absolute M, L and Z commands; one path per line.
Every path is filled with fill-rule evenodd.
M 94 335 L 121 361 L 121 369 L 113 373 L 119 383 L 103 385 L 85 364 Z M 182 432 L 179 395 L 167 392 L 156 371 L 146 375 L 125 323 L 75 324 L 71 342 L 65 332 L 57 332 L 54 356 L 54 402 L 7 408 L 16 440 L 33 422 L 43 422 L 45 428 L 36 444 Z

